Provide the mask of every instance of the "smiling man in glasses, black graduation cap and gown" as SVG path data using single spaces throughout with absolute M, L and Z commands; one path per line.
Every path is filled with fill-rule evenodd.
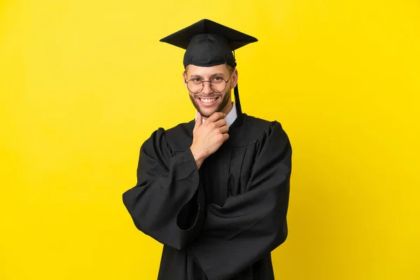
M 164 244 L 158 279 L 274 279 L 292 150 L 279 123 L 241 112 L 232 51 L 257 40 L 201 20 L 161 41 L 186 49 L 183 79 L 197 116 L 153 132 L 137 186 L 123 194 L 136 227 Z

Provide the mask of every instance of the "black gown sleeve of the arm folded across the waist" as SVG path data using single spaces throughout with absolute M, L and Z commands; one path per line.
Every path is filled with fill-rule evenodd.
M 246 192 L 209 204 L 202 234 L 188 250 L 209 280 L 231 279 L 286 240 L 292 148 L 279 123 L 258 147 Z

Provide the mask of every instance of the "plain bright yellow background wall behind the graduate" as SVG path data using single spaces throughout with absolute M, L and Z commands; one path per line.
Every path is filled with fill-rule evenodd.
M 156 278 L 121 195 L 195 116 L 159 39 L 202 18 L 259 39 L 243 110 L 293 144 L 276 279 L 420 279 L 417 0 L 0 1 L 0 279 Z

